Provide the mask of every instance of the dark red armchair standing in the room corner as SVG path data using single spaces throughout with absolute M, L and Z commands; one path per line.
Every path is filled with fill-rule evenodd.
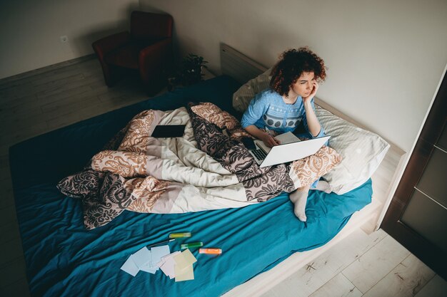
M 101 63 L 106 85 L 113 86 L 127 68 L 139 71 L 149 94 L 164 88 L 164 68 L 173 61 L 173 23 L 168 14 L 133 11 L 130 33 L 116 33 L 95 41 L 92 46 Z

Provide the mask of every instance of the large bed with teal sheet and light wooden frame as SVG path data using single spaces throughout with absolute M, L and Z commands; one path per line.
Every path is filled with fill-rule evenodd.
M 182 214 L 124 211 L 108 224 L 86 230 L 81 203 L 61 194 L 56 184 L 82 170 L 144 110 L 176 110 L 194 101 L 211 102 L 236 115 L 233 94 L 244 81 L 266 69 L 226 45 L 221 47 L 221 61 L 222 71 L 228 75 L 10 148 L 16 212 L 32 296 L 258 296 L 359 224 L 380 220 L 403 159 L 403 152 L 392 144 L 380 167 L 376 165 L 373 181 L 368 177 L 343 194 L 312 191 L 306 223 L 294 217 L 293 205 L 283 193 L 245 207 Z M 323 113 L 337 113 L 321 101 L 317 104 Z M 141 247 L 164 241 L 179 231 L 190 231 L 189 241 L 219 247 L 223 254 L 212 257 L 191 249 L 198 260 L 193 281 L 174 282 L 160 271 L 132 277 L 120 270 Z M 169 243 L 171 251 L 178 251 L 184 242 Z

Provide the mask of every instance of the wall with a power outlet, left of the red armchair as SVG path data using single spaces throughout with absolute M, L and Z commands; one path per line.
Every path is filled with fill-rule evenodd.
M 0 78 L 93 53 L 91 43 L 129 28 L 136 9 L 138 0 L 1 0 Z

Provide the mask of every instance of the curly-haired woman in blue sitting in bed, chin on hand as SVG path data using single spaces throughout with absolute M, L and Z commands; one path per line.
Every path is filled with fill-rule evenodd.
M 293 131 L 298 137 L 307 138 L 324 136 L 313 106 L 318 83 L 326 79 L 323 59 L 307 47 L 291 49 L 281 54 L 271 76 L 270 88 L 256 95 L 248 105 L 241 120 L 242 127 L 268 147 L 278 145 L 269 130 Z M 298 134 L 300 128 L 303 133 Z M 327 182 L 317 180 L 312 186 L 330 192 Z M 295 204 L 295 215 L 302 222 L 307 219 L 305 209 L 310 188 L 310 185 L 301 187 L 289 195 Z

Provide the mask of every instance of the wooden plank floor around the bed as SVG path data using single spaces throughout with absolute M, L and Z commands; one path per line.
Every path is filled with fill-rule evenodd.
M 9 147 L 146 98 L 135 79 L 107 88 L 91 57 L 0 80 L 0 296 L 29 296 Z M 447 283 L 384 231 L 358 230 L 263 295 L 270 296 L 447 296 Z

